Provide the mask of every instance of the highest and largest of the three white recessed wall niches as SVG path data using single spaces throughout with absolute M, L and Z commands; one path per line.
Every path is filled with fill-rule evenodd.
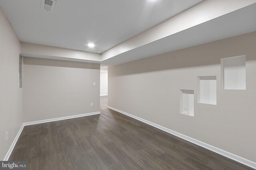
M 222 88 L 246 89 L 245 55 L 221 59 Z

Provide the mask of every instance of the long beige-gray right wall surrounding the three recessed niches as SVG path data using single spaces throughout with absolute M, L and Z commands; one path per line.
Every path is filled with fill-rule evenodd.
M 108 68 L 108 106 L 256 162 L 256 32 Z M 220 59 L 246 55 L 246 90 L 221 88 Z M 217 76 L 217 105 L 197 103 L 197 76 Z M 194 90 L 194 117 L 179 113 Z

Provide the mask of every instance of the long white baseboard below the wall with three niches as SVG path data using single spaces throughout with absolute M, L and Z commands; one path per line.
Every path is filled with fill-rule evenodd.
M 130 113 L 126 113 L 126 112 L 124 112 L 124 111 L 122 111 L 122 110 L 118 110 L 118 109 L 116 109 L 116 108 L 114 108 L 114 107 L 108 106 L 108 108 L 109 108 L 109 109 L 112 109 L 112 110 L 114 110 L 114 111 L 117 111 L 117 112 L 119 112 L 119 113 L 122 113 L 122 114 L 124 114 L 124 115 L 127 115 L 127 116 L 129 116 L 129 117 L 132 117 L 132 118 L 134 118 L 134 119 L 137 119 L 137 120 L 139 120 L 139 121 L 142 121 L 142 122 L 144 122 L 144 123 L 146 123 L 146 124 L 148 124 L 148 125 L 151 125 L 151 126 L 153 126 L 153 127 L 156 127 L 156 128 L 158 128 L 158 129 L 160 129 L 160 130 L 162 130 L 162 131 L 165 131 L 165 132 L 167 132 L 167 133 L 170 133 L 170 134 L 172 134 L 172 135 L 174 135 L 174 136 L 176 136 L 176 137 L 179 137 L 179 138 L 181 138 L 181 139 L 184 139 L 184 140 L 186 140 L 186 141 L 188 141 L 188 142 L 194 143 L 194 144 L 196 144 L 196 145 L 198 145 L 198 146 L 200 146 L 200 147 L 203 147 L 203 148 L 205 148 L 205 149 L 208 149 L 208 150 L 211 150 L 211 151 L 216 152 L 216 153 L 218 153 L 218 154 L 221 154 L 222 156 L 226 156 L 227 158 L 230 158 L 230 159 L 232 159 L 232 160 L 235 160 L 236 162 L 239 162 L 239 163 L 241 163 L 241 164 L 244 164 L 244 165 L 246 165 L 246 166 L 249 166 L 249 167 L 251 167 L 251 168 L 256 169 L 256 162 L 253 162 L 253 161 L 251 161 L 251 160 L 248 160 L 248 159 L 243 158 L 243 157 L 241 157 L 241 156 L 238 156 L 238 155 L 236 155 L 236 154 L 232 154 L 232 153 L 230 153 L 230 152 L 228 152 L 228 151 L 226 151 L 226 150 L 223 150 L 223 149 L 214 147 L 214 146 L 209 145 L 209 144 L 207 144 L 207 143 L 204 143 L 204 142 L 202 142 L 202 141 L 198 141 L 197 139 L 194 139 L 194 138 L 192 138 L 192 137 L 188 137 L 188 136 L 186 136 L 186 135 L 183 135 L 183 134 L 181 134 L 181 133 L 178 133 L 178 132 L 173 131 L 173 130 L 171 130 L 171 129 L 168 129 L 168 128 L 166 128 L 166 127 L 162 127 L 162 126 L 160 126 L 160 125 L 158 125 L 158 124 L 156 124 L 156 123 L 152 123 L 152 122 L 147 121 L 147 120 L 145 120 L 145 119 L 142 119 L 142 118 L 140 118 L 140 117 L 131 115 Z

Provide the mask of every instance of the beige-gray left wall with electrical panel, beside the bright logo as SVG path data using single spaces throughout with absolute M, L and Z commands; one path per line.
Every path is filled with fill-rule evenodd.
M 20 40 L 0 8 L 0 160 L 4 159 L 23 122 L 19 53 Z

